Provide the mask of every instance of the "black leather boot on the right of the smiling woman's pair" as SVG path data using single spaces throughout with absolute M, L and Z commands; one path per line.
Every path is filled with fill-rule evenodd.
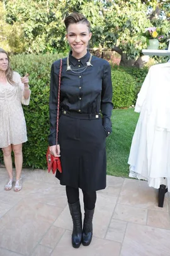
M 88 246 L 91 243 L 91 239 L 93 236 L 93 210 L 88 210 L 84 208 L 84 224 L 82 229 L 82 245 Z

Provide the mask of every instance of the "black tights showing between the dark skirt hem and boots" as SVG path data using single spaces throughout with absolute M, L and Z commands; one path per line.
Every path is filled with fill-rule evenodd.
M 88 210 L 93 210 L 96 203 L 96 191 L 86 192 L 82 190 L 84 207 Z M 66 186 L 67 200 L 69 204 L 74 204 L 79 200 L 79 188 Z

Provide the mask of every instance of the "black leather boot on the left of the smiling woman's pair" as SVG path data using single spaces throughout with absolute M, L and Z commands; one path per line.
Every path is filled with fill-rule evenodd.
M 72 229 L 72 247 L 79 248 L 82 241 L 82 218 L 80 202 L 69 204 L 69 209 L 72 216 L 73 229 Z

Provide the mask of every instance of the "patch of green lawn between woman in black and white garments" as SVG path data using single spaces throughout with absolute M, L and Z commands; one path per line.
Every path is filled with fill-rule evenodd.
M 128 177 L 128 155 L 138 118 L 134 109 L 113 110 L 113 132 L 106 141 L 107 174 Z

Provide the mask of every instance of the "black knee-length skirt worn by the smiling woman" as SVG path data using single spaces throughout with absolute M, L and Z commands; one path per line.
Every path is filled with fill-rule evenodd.
M 59 119 L 61 185 L 85 191 L 106 187 L 106 132 L 100 114 L 63 111 Z

